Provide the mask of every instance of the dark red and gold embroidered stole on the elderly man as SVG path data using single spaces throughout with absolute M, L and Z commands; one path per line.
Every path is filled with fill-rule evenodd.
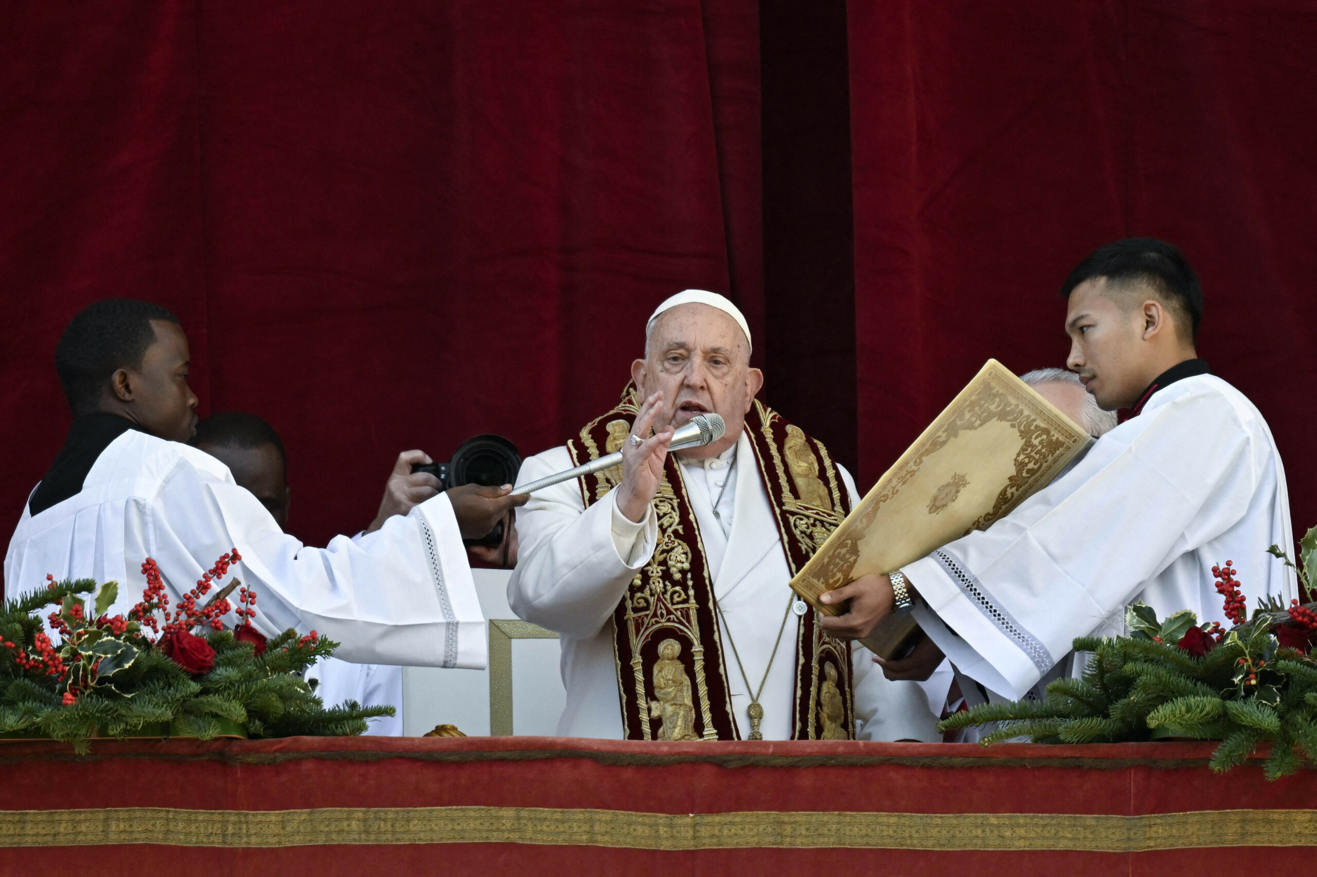
M 635 387 L 628 386 L 616 408 L 568 441 L 573 462 L 620 449 L 637 410 Z M 786 566 L 795 575 L 851 511 L 851 498 L 827 449 L 757 400 L 745 416 L 745 435 L 773 507 Z M 589 507 L 622 482 L 622 466 L 578 481 Z M 612 615 L 626 736 L 736 740 L 712 570 L 681 465 L 672 456 L 653 508 L 658 519 L 653 557 L 636 573 Z M 793 739 L 853 736 L 851 651 L 823 632 L 813 610 L 797 624 L 793 703 Z

